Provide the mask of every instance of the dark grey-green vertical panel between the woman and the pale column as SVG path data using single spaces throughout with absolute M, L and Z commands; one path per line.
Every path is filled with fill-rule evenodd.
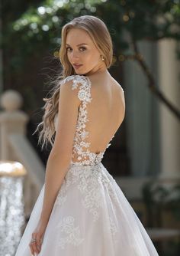
M 139 41 L 140 53 L 156 79 L 156 43 Z M 159 173 L 159 112 L 156 97 L 147 85 L 137 61 L 124 63 L 127 150 L 132 176 L 156 176 Z

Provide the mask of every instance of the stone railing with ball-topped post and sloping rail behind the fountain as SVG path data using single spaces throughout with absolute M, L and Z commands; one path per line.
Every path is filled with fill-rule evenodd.
M 20 110 L 22 97 L 17 91 L 7 90 L 0 99 L 0 160 L 18 161 L 27 170 L 24 178 L 24 211 L 31 213 L 43 186 L 45 166 L 26 137 L 27 114 Z

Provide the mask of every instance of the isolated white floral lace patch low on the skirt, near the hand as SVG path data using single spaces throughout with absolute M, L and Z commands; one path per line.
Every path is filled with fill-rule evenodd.
M 63 249 L 67 244 L 79 246 L 84 241 L 84 238 L 80 237 L 79 226 L 75 226 L 75 218 L 73 216 L 63 218 L 56 228 L 60 231 L 58 245 Z

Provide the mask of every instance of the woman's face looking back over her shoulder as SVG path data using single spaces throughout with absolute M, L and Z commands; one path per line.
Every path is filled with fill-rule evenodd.
M 66 53 L 76 74 L 93 74 L 105 67 L 92 38 L 83 29 L 69 30 L 66 37 Z

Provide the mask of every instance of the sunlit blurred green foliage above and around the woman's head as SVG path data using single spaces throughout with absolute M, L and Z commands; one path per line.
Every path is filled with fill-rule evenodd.
M 4 42 L 21 41 L 22 54 L 39 50 L 39 45 L 59 47 L 62 26 L 79 15 L 95 15 L 108 25 L 117 55 L 131 51 L 132 38 L 180 40 L 179 0 L 46 0 L 7 23 Z

